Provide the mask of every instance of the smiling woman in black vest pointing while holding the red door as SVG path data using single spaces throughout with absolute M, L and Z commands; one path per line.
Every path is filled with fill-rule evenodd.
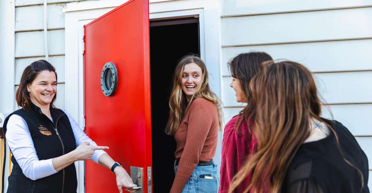
M 50 63 L 38 60 L 26 67 L 16 91 L 21 109 L 4 121 L 13 163 L 7 192 L 76 192 L 74 162 L 89 159 L 116 174 L 119 192 L 123 186 L 135 187 L 103 151 L 108 147 L 97 146 L 67 112 L 54 106 L 56 93 L 57 73 Z

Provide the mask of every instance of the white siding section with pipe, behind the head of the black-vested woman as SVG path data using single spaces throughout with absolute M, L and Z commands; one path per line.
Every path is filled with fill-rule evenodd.
M 48 0 L 48 3 L 54 4 L 47 5 L 49 62 L 54 65 L 58 74 L 55 106 L 61 109 L 65 108 L 65 18 L 62 9 L 66 2 L 71 0 Z M 15 2 L 15 91 L 25 67 L 35 60 L 45 59 L 42 3 L 42 0 Z M 16 102 L 15 108 L 18 109 Z

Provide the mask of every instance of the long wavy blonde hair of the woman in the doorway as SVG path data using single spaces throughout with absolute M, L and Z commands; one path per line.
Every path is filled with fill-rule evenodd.
M 186 95 L 182 91 L 181 78 L 183 69 L 186 64 L 196 63 L 202 69 L 201 84 L 196 87 L 194 95 L 191 97 L 190 102 L 187 102 Z M 219 128 L 222 128 L 222 107 L 221 101 L 218 96 L 211 91 L 208 84 L 208 71 L 204 62 L 197 55 L 186 55 L 181 58 L 177 64 L 177 67 L 173 75 L 173 88 L 169 97 L 169 119 L 167 122 L 166 133 L 174 135 L 176 133 L 183 116 L 186 114 L 192 101 L 196 98 L 205 98 L 209 101 L 214 102 L 217 106 L 217 112 L 219 117 Z

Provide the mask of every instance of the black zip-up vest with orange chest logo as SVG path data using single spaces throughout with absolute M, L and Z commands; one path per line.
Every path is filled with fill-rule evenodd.
M 31 110 L 19 109 L 4 121 L 4 133 L 7 122 L 13 114 L 21 116 L 27 123 L 33 145 L 39 160 L 47 160 L 67 154 L 76 149 L 76 141 L 67 115 L 57 108 L 50 108 L 53 122 L 32 104 Z M 9 127 L 9 129 L 11 129 Z M 31 180 L 23 174 L 14 156 L 12 173 L 8 177 L 8 193 L 70 193 L 76 192 L 77 177 L 75 164 L 61 171 L 37 180 Z

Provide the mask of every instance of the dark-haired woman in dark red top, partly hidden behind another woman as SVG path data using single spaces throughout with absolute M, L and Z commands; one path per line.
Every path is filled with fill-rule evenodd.
M 219 193 L 227 193 L 232 177 L 256 147 L 253 120 L 251 119 L 251 115 L 254 113 L 254 104 L 251 102 L 248 85 L 252 77 L 258 73 L 260 64 L 268 60 L 272 60 L 272 58 L 265 52 L 249 52 L 235 56 L 228 63 L 232 75 L 230 86 L 236 92 L 236 101 L 247 103 L 247 106 L 225 125 Z M 249 182 L 249 177 L 245 182 Z M 241 193 L 244 189 L 244 184 L 241 184 L 235 192 Z

